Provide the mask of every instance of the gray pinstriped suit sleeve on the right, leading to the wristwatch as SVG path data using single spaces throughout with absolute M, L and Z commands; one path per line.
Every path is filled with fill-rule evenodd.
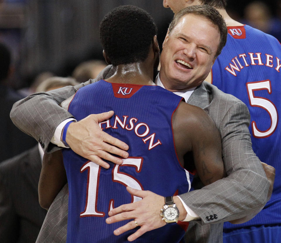
M 225 112 L 218 128 L 228 176 L 199 190 L 180 195 L 200 216 L 201 223 L 242 218 L 261 210 L 267 201 L 269 182 L 251 147 L 249 120 L 248 108 L 241 101 L 235 102 Z

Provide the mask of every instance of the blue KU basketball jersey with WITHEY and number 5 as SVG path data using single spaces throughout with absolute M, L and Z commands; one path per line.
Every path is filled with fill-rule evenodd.
M 273 194 L 264 209 L 240 228 L 281 222 L 281 46 L 248 25 L 228 27 L 227 43 L 212 68 L 212 83 L 249 108 L 253 151 L 276 169 Z

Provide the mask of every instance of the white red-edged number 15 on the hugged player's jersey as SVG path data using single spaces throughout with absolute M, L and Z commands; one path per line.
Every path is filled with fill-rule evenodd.
M 120 184 L 126 186 L 130 186 L 134 189 L 143 190 L 142 185 L 140 182 L 133 178 L 131 175 L 120 172 L 120 167 L 123 166 L 133 166 L 136 168 L 137 172 L 141 171 L 143 164 L 143 158 L 141 157 L 134 157 L 134 158 L 127 158 L 123 159 L 123 164 L 121 166 L 115 165 L 112 169 L 112 180 L 114 182 L 119 182 Z M 86 205 L 85 211 L 80 213 L 80 217 L 87 217 L 87 216 L 96 216 L 96 217 L 104 217 L 104 212 L 97 211 L 97 195 L 98 195 L 98 187 L 99 187 L 99 177 L 100 177 L 100 166 L 95 164 L 92 161 L 88 161 L 85 163 L 80 171 L 83 173 L 85 170 L 88 169 L 88 188 L 87 188 L 87 196 L 86 196 Z M 141 200 L 140 197 L 133 196 L 131 202 L 136 202 Z M 110 210 L 113 208 L 112 206 L 113 199 L 110 200 Z

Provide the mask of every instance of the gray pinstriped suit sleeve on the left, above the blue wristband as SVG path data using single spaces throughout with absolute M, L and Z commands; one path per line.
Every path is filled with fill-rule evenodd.
M 35 93 L 16 102 L 10 113 L 13 123 L 20 130 L 35 138 L 44 152 L 59 149 L 50 142 L 56 127 L 62 121 L 73 117 L 59 105 L 75 94 L 79 88 L 110 75 L 110 69 L 111 66 L 107 66 L 95 80 L 89 80 L 74 87 L 67 86 L 49 92 Z

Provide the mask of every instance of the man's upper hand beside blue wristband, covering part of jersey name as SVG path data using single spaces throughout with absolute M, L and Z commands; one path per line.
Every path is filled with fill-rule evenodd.
M 109 168 L 109 164 L 101 158 L 120 165 L 122 159 L 111 154 L 123 158 L 129 156 L 128 152 L 124 151 L 129 149 L 128 145 L 103 132 L 99 126 L 99 122 L 109 119 L 113 114 L 114 111 L 91 114 L 78 122 L 71 123 L 66 132 L 66 142 L 76 154 L 106 169 Z

